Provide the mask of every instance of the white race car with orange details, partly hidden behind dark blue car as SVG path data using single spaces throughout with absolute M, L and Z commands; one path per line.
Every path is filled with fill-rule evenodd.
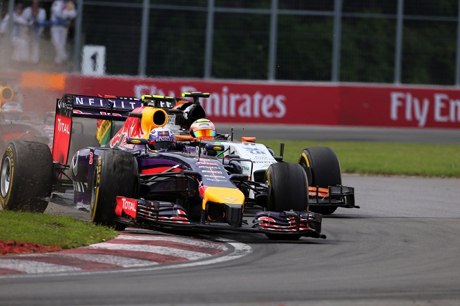
M 200 105 L 200 98 L 208 98 L 209 94 L 202 92 L 185 92 L 185 98 L 192 98 L 193 103 L 189 102 L 189 107 L 205 118 L 204 109 Z M 148 96 L 144 96 L 148 99 Z M 169 111 L 168 109 L 165 109 Z M 177 116 L 177 113 L 175 114 Z M 243 136 L 241 141 L 233 139 L 233 130 L 229 134 L 214 133 L 213 136 L 191 135 L 193 122 L 188 121 L 188 125 L 177 126 L 173 121 L 169 121 L 169 126 L 178 131 L 177 138 L 188 143 L 189 152 L 201 151 L 202 154 L 220 157 L 222 163 L 230 163 L 235 167 L 238 165 L 242 169 L 242 174 L 250 178 L 249 181 L 237 181 L 236 185 L 245 193 L 247 201 L 258 203 L 258 194 L 265 190 L 265 174 L 269 167 L 283 160 L 284 144 L 280 144 L 280 154 L 275 156 L 274 150 L 266 147 L 262 143 L 256 143 L 256 137 Z M 206 120 L 203 120 L 206 121 Z M 171 123 L 172 122 L 172 123 Z M 173 126 L 176 125 L 174 129 Z M 212 133 L 209 133 L 211 135 Z M 207 151 L 207 147 L 214 147 L 215 150 Z M 338 207 L 359 208 L 354 201 L 354 187 L 342 185 L 341 167 L 334 150 L 330 147 L 307 147 L 301 152 L 298 164 L 300 164 L 308 179 L 309 210 L 319 214 L 332 214 Z

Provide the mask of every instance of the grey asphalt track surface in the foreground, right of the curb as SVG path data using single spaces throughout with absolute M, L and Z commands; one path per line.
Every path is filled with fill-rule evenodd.
M 445 133 L 448 143 L 457 133 Z M 429 143 L 445 141 L 434 134 Z M 325 240 L 209 234 L 251 252 L 211 265 L 0 277 L 0 304 L 459 305 L 460 179 L 344 175 L 343 183 L 356 187 L 361 209 L 326 216 Z

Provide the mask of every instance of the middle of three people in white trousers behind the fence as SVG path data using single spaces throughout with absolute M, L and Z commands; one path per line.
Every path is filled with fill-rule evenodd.
M 22 13 L 24 19 L 28 21 L 29 28 L 29 41 L 30 41 L 30 54 L 29 59 L 31 63 L 38 63 L 39 61 L 39 43 L 41 34 L 44 30 L 44 22 L 46 20 L 46 10 L 40 8 L 39 0 L 32 0 L 32 6 L 29 6 Z

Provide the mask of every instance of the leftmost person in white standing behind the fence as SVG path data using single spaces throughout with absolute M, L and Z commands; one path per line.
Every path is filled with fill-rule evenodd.
M 11 26 L 11 41 L 12 41 L 12 60 L 16 62 L 28 61 L 28 22 L 22 17 L 23 6 L 18 3 L 15 6 L 15 11 L 12 13 L 12 26 Z M 10 15 L 1 21 L 0 32 L 6 34 L 8 32 L 8 23 L 10 23 Z

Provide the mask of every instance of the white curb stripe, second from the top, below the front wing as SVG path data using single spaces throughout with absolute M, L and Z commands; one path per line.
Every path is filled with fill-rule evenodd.
M 173 247 L 158 247 L 156 245 L 123 245 L 118 243 L 97 243 L 90 245 L 90 249 L 117 249 L 121 251 L 148 252 L 168 256 L 179 256 L 191 261 L 209 257 L 211 254 L 202 252 L 187 251 L 185 249 L 175 249 Z

